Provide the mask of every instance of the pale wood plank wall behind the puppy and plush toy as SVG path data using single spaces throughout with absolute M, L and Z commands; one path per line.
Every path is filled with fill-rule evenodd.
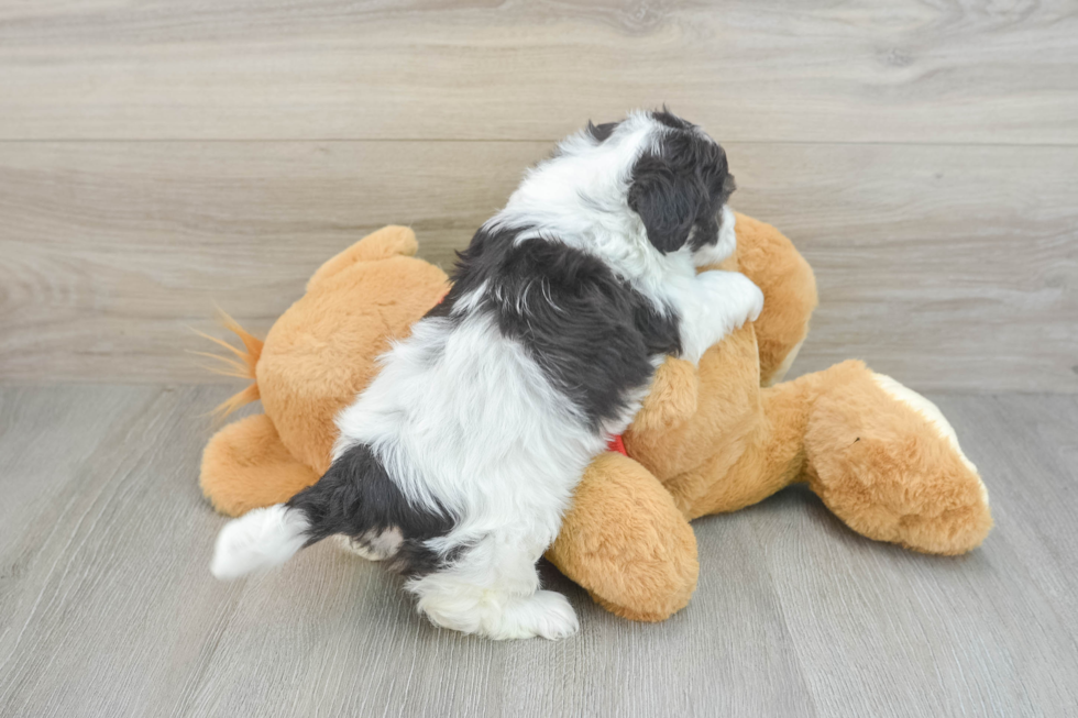
M 800 371 L 1078 391 L 1070 2 L 0 2 L 0 382 L 205 382 L 384 223 L 448 264 L 587 119 L 727 146 L 821 308 Z

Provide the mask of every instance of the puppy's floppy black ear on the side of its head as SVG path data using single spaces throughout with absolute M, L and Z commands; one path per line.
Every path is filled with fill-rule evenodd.
M 707 187 L 689 163 L 645 155 L 632 168 L 629 208 L 640 216 L 648 240 L 663 254 L 676 252 L 708 202 Z

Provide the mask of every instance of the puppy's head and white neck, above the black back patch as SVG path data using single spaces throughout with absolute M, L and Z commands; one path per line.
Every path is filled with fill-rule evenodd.
M 726 152 L 703 130 L 666 110 L 632 112 L 563 140 L 495 221 L 552 234 L 600 227 L 662 254 L 688 245 L 702 266 L 733 251 L 733 191 Z

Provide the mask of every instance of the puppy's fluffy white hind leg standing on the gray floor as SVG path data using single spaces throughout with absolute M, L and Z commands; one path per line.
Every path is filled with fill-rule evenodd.
M 504 537 L 486 537 L 452 565 L 408 584 L 436 625 L 497 640 L 561 639 L 580 628 L 569 600 L 539 588 L 536 561 Z

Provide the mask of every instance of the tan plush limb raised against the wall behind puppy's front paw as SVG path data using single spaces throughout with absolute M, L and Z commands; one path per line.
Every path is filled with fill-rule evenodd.
M 816 308 L 816 279 L 793 243 L 770 224 L 736 214 L 737 265 L 763 291 L 754 322 L 760 346 L 760 382 L 782 380 L 809 333 Z

